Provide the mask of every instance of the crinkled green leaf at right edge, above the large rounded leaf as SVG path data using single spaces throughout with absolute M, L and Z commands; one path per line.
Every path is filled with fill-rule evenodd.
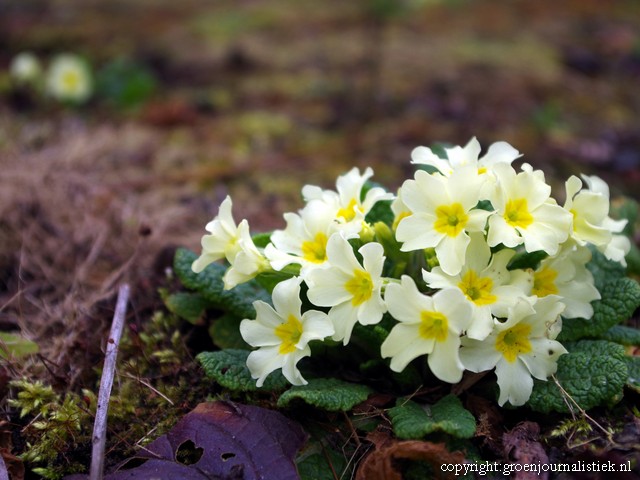
M 614 325 L 628 320 L 640 306 L 640 285 L 631 278 L 614 278 L 599 290 L 602 298 L 592 302 L 593 317 L 564 319 L 559 341 L 599 337 Z

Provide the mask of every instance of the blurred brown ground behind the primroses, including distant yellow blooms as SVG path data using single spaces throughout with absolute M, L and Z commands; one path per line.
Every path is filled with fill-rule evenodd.
M 4 0 L 0 327 L 94 332 L 225 195 L 280 228 L 353 166 L 397 188 L 419 145 L 505 140 L 559 199 L 577 172 L 639 198 L 639 87 L 637 0 Z

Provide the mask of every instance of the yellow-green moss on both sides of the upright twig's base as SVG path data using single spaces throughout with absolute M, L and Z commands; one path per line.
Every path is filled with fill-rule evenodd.
M 211 392 L 179 326 L 175 315 L 158 312 L 138 335 L 123 337 L 109 403 L 107 469 L 165 433 Z M 19 456 L 27 467 L 45 479 L 86 471 L 98 384 L 66 393 L 26 379 L 11 386 L 17 394 L 9 405 L 25 422 Z

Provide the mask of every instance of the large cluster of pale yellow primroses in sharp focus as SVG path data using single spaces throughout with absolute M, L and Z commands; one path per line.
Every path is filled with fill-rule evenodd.
M 556 372 L 561 317 L 588 319 L 600 298 L 587 244 L 623 264 L 630 248 L 625 222 L 609 217 L 607 185 L 573 176 L 559 205 L 542 171 L 512 166 L 520 153 L 505 142 L 483 156 L 475 138 L 444 151 L 416 148 L 414 178 L 396 195 L 368 182 L 371 169 L 339 177 L 336 191 L 305 186 L 304 207 L 284 215 L 265 248 L 224 200 L 193 270 L 226 259 L 225 288 L 265 272 L 283 278 L 273 306 L 254 302 L 256 318 L 240 326 L 258 347 L 247 361 L 258 386 L 279 368 L 305 384 L 297 363 L 311 340 L 347 345 L 357 324 L 385 316 L 394 323 L 380 356 L 396 372 L 422 356 L 449 383 L 495 368 L 500 405 L 524 404 L 533 378 Z M 518 268 L 533 252 L 541 260 Z

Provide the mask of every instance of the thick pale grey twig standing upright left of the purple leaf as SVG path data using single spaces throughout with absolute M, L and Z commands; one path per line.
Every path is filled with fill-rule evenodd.
M 107 342 L 107 352 L 104 357 L 102 378 L 100 379 L 96 420 L 93 424 L 93 448 L 91 451 L 89 480 L 102 480 L 103 476 L 104 447 L 107 442 L 107 411 L 109 409 L 109 397 L 111 396 L 111 387 L 113 387 L 113 378 L 115 376 L 118 345 L 120 344 L 120 337 L 122 336 L 122 330 L 124 328 L 128 301 L 129 285 L 124 284 L 118 290 L 116 311 L 113 314 L 111 332 L 109 333 L 109 340 Z

